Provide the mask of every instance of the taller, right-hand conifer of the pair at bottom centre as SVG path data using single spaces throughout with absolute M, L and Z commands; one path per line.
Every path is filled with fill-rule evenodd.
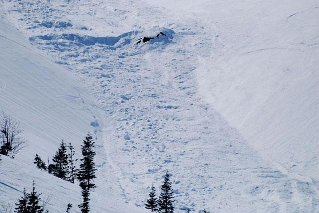
M 173 190 L 171 189 L 171 182 L 169 180 L 168 171 L 166 172 L 164 183 L 161 186 L 161 193 L 159 197 L 159 213 L 174 213 Z

